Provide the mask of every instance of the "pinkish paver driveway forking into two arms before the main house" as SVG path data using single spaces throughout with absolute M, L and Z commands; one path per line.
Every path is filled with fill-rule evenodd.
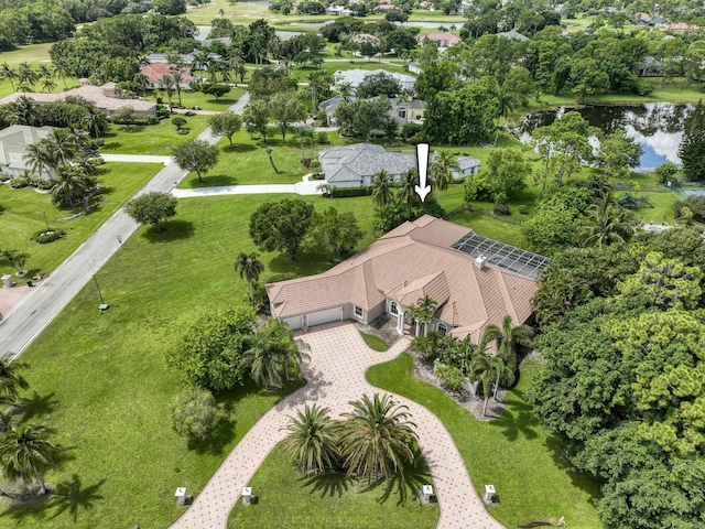
M 322 325 L 299 337 L 311 346 L 311 359 L 304 366 L 308 384 L 284 398 L 245 434 L 173 529 L 226 528 L 242 487 L 248 486 L 267 455 L 284 438 L 281 429 L 296 408 L 317 403 L 329 408 L 332 417 L 350 411 L 349 401 L 360 399 L 364 393 L 381 392 L 365 379 L 367 368 L 395 358 L 409 346 L 408 338 L 400 338 L 386 353 L 375 352 L 367 347 L 351 323 Z M 419 445 L 431 469 L 441 507 L 437 527 L 502 528 L 485 510 L 463 457 L 441 420 L 416 402 L 394 398 L 409 407 L 417 424 Z M 265 490 L 252 493 L 267 494 Z

